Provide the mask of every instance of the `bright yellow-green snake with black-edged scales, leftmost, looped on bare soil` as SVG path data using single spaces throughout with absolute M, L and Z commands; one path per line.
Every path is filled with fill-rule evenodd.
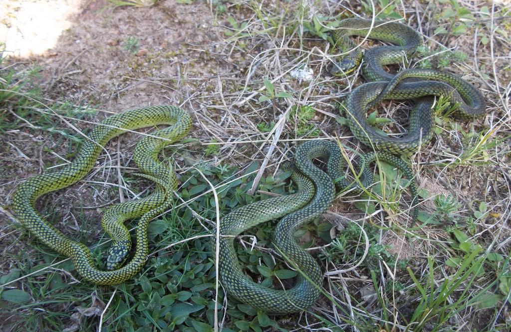
M 18 220 L 45 245 L 72 259 L 77 272 L 97 284 L 121 283 L 138 273 L 149 253 L 147 226 L 151 219 L 165 211 L 172 202 L 177 179 L 172 165 L 158 160 L 158 153 L 166 145 L 186 135 L 191 126 L 190 115 L 175 106 L 150 106 L 129 110 L 108 117 L 90 132 L 73 162 L 56 172 L 35 176 L 21 183 L 13 194 L 12 205 Z M 126 131 L 148 126 L 169 124 L 151 136 L 141 139 L 133 158 L 145 178 L 156 182 L 156 190 L 146 198 L 112 206 L 103 218 L 103 226 L 114 239 L 107 267 L 99 270 L 90 250 L 73 241 L 51 225 L 35 208 L 36 200 L 49 192 L 67 187 L 81 180 L 94 167 L 106 143 Z M 131 260 L 118 268 L 130 251 L 129 232 L 123 225 L 127 219 L 141 217 L 136 229 L 136 249 Z

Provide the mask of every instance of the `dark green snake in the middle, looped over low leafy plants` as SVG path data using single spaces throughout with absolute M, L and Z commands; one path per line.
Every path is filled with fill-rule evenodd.
M 312 163 L 314 158 L 327 159 L 326 172 Z M 293 180 L 298 184 L 295 194 L 269 198 L 242 206 L 220 221 L 219 271 L 222 285 L 229 295 L 271 314 L 287 314 L 306 310 L 321 290 L 321 270 L 316 260 L 294 239 L 298 227 L 320 217 L 332 204 L 337 191 L 361 192 L 374 183 L 369 163 L 386 161 L 404 172 L 410 179 L 412 197 L 417 196 L 412 181 L 413 172 L 401 158 L 386 153 L 367 153 L 358 161 L 360 184 L 344 176 L 344 157 L 339 147 L 327 140 L 310 140 L 300 145 L 295 153 L 297 171 Z M 335 185 L 334 185 L 335 182 Z M 412 205 L 414 205 L 412 201 Z M 413 216 L 417 216 L 417 208 Z M 295 286 L 289 290 L 266 288 L 252 281 L 238 262 L 234 236 L 260 223 L 278 219 L 273 244 L 291 266 L 299 271 Z

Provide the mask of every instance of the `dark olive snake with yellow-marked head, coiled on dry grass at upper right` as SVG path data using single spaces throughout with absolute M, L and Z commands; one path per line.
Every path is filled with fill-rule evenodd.
M 350 93 L 346 113 L 352 133 L 365 145 L 375 150 L 403 154 L 414 152 L 421 144 L 427 143 L 433 137 L 434 129 L 434 100 L 431 96 L 449 97 L 462 117 L 484 113 L 482 94 L 456 75 L 434 69 L 405 69 L 397 75 L 385 71 L 384 65 L 409 61 L 422 44 L 420 35 L 410 27 L 398 22 L 375 21 L 373 24 L 369 19 L 346 18 L 339 22 L 333 35 L 335 46 L 343 53 L 357 46 L 349 38 L 353 35 L 396 44 L 371 48 L 365 54 L 356 48 L 331 70 L 336 76 L 349 74 L 361 63 L 363 56 L 362 73 L 368 83 Z M 421 80 L 406 80 L 409 78 Z M 386 136 L 367 123 L 367 110 L 384 99 L 417 100 L 409 115 L 407 135 Z

